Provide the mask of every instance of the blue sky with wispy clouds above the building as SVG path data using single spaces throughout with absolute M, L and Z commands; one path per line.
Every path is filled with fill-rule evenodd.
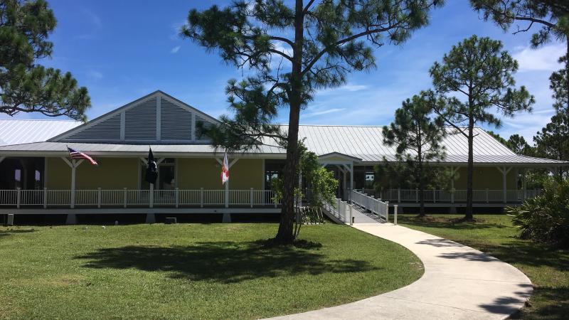
M 160 5 L 156 1 L 50 0 L 58 26 L 50 36 L 53 56 L 41 63 L 70 71 L 87 87 L 92 100 L 87 112 L 90 119 L 158 89 L 218 117 L 228 112 L 227 80 L 240 78 L 242 73 L 215 53 L 206 53 L 177 35 L 189 9 L 206 9 L 214 3 L 226 4 L 205 0 L 164 1 Z M 530 33 L 504 33 L 493 23 L 482 21 L 467 0 L 448 0 L 445 7 L 432 12 L 430 26 L 414 33 L 403 46 L 378 48 L 378 68 L 352 73 L 344 87 L 319 92 L 302 112 L 301 123 L 388 124 L 403 100 L 431 87 L 428 70 L 432 63 L 472 34 L 503 41 L 505 49 L 519 60 L 516 80 L 535 95 L 535 110 L 504 119 L 504 126 L 494 130 L 505 137 L 523 134 L 531 141 L 553 115 L 548 77 L 561 67 L 557 59 L 565 46 L 550 43 L 532 50 Z M 286 119 L 283 113 L 281 122 Z

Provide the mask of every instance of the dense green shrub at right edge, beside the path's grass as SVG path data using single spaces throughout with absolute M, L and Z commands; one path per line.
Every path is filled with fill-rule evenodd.
M 569 179 L 548 181 L 541 196 L 506 212 L 514 215 L 521 238 L 569 247 Z

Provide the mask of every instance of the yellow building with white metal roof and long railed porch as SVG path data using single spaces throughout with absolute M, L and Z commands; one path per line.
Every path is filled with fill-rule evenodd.
M 235 213 L 279 212 L 270 180 L 282 174 L 286 152 L 274 143 L 228 153 L 230 179 L 220 178 L 223 150 L 210 145 L 201 126 L 218 120 L 164 92 L 156 91 L 80 124 L 46 120 L 1 120 L 0 211 L 21 213 Z M 282 130 L 287 130 L 282 126 Z M 301 125 L 299 137 L 321 164 L 339 179 L 339 198 L 363 189 L 376 198 L 416 206 L 417 191 L 371 190 L 373 167 L 394 161 L 395 148 L 383 144 L 382 127 Z M 519 203 L 526 191 L 518 172 L 554 168 L 563 161 L 519 156 L 483 129 L 475 129 L 474 200 L 479 206 Z M 467 141 L 460 134 L 445 138 L 446 156 L 437 165 L 455 173 L 448 186 L 425 191 L 433 206 L 462 206 L 466 200 Z M 91 156 L 70 159 L 68 148 Z M 157 180 L 144 179 L 152 149 Z M 376 183 L 377 184 L 377 183 Z M 308 186 L 304 186 L 308 187 Z M 39 210 L 39 211 L 38 211 Z M 1 211 L 0 213 L 4 212 Z

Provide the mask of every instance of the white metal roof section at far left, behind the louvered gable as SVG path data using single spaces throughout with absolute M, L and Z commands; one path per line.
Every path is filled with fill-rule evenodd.
M 83 122 L 56 119 L 0 119 L 0 146 L 43 142 L 80 124 Z

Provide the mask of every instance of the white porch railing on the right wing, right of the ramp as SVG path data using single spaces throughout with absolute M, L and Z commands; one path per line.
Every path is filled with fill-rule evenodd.
M 419 202 L 419 192 L 417 189 L 386 189 L 376 191 L 373 189 L 358 189 L 359 193 L 372 196 L 383 201 L 396 203 Z M 505 197 L 504 197 L 505 194 Z M 520 203 L 527 198 L 534 198 L 541 194 L 541 190 L 473 190 L 472 201 L 476 203 Z M 427 203 L 455 203 L 466 202 L 466 190 L 425 190 L 423 193 Z

